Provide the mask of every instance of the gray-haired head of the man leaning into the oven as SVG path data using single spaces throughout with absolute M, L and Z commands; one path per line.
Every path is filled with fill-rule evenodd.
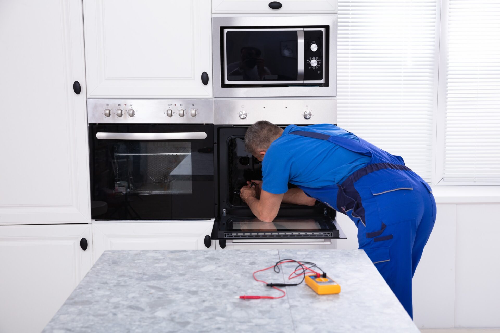
M 245 133 L 245 150 L 257 156 L 261 151 L 267 151 L 272 141 L 281 135 L 282 129 L 265 120 L 251 125 Z

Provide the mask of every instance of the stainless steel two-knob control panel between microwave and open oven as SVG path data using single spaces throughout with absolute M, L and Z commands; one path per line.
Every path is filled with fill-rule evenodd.
M 251 125 L 267 120 L 276 125 L 336 124 L 336 99 L 213 99 L 213 124 Z

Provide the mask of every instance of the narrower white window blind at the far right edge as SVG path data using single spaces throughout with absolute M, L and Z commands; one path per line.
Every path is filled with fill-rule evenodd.
M 500 0 L 449 0 L 445 179 L 500 179 Z

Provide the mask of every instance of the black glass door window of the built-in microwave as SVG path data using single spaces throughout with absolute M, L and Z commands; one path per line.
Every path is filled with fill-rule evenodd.
M 297 80 L 297 31 L 226 31 L 228 81 Z

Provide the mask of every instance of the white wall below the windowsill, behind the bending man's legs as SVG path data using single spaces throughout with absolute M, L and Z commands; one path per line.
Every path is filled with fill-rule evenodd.
M 419 328 L 500 328 L 500 201 L 463 198 L 436 195 L 436 222 L 413 277 Z M 343 214 L 337 221 L 347 240 L 336 248 L 356 249 L 354 223 Z

